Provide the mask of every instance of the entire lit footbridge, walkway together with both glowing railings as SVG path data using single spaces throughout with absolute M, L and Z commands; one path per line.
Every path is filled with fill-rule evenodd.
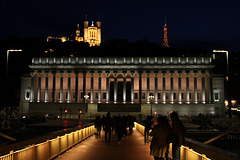
M 0 157 L 0 160 L 153 160 L 153 157 L 149 154 L 149 144 L 144 144 L 144 136 L 142 136 L 144 126 L 139 123 L 135 123 L 133 135 L 124 139 L 120 145 L 117 143 L 117 138 L 112 136 L 111 145 L 106 146 L 103 136 L 100 139 L 91 136 L 94 131 L 94 125 L 90 124 L 77 130 L 72 128 L 46 135 L 39 140 L 35 139 L 34 142 L 36 144 L 29 145 L 21 150 L 11 150 L 9 154 Z M 44 141 L 46 139 L 47 141 Z M 170 157 L 171 149 L 170 144 Z M 209 160 L 209 158 L 240 160 L 238 154 L 233 154 L 189 138 L 185 138 L 185 145 L 181 146 L 180 156 L 182 160 Z

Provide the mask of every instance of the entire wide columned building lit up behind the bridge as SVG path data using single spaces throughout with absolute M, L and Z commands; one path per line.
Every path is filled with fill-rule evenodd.
M 22 113 L 224 115 L 224 77 L 211 57 L 33 58 Z

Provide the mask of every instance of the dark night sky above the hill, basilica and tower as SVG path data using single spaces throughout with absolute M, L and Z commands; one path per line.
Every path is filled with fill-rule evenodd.
M 3 0 L 0 39 L 75 34 L 87 14 L 89 21 L 100 16 L 102 39 L 161 44 L 166 17 L 170 46 L 240 51 L 240 2 L 210 1 Z

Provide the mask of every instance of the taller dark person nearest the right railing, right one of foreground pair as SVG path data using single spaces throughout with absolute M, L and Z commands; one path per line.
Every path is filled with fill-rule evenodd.
M 186 132 L 186 128 L 182 124 L 182 121 L 179 119 L 177 112 L 173 111 L 170 114 L 170 118 L 172 119 L 173 131 L 172 158 L 173 160 L 180 160 L 180 147 L 184 141 L 184 134 Z

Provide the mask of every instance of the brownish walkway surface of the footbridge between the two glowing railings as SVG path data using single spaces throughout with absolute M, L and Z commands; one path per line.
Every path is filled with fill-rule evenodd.
M 132 135 L 123 139 L 121 144 L 112 136 L 111 145 L 106 146 L 102 138 L 91 136 L 68 150 L 55 160 L 153 160 L 150 145 L 144 144 L 144 136 L 134 128 Z

